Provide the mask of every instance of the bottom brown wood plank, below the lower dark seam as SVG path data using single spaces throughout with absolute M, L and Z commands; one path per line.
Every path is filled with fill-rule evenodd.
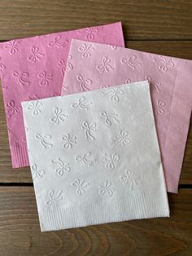
M 169 195 L 171 218 L 40 232 L 33 188 L 0 188 L 0 255 L 191 255 L 192 190 Z

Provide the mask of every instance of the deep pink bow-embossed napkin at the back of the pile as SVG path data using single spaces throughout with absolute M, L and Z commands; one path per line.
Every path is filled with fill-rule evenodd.
M 29 165 L 21 102 L 60 95 L 64 73 L 73 69 L 68 55 L 72 38 L 124 46 L 120 22 L 0 44 L 0 76 L 14 168 Z M 92 49 L 81 48 L 85 57 L 89 51 Z M 37 103 L 30 110 L 37 115 L 40 108 Z

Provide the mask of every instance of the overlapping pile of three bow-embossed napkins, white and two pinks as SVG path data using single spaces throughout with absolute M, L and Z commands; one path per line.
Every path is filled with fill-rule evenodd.
M 169 216 L 191 70 L 124 48 L 120 22 L 0 44 L 12 166 L 31 168 L 41 231 Z

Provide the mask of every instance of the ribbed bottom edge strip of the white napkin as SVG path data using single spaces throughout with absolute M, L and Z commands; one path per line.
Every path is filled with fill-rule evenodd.
M 163 197 L 153 193 L 129 196 L 127 199 L 102 201 L 97 205 L 81 204 L 65 207 L 46 206 L 39 215 L 41 232 L 85 227 L 103 223 L 122 222 L 141 218 L 169 217 L 167 192 L 162 190 Z

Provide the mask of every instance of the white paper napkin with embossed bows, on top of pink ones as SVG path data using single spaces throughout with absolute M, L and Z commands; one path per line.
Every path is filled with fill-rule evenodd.
M 22 103 L 41 231 L 169 216 L 149 83 L 114 90 Z

